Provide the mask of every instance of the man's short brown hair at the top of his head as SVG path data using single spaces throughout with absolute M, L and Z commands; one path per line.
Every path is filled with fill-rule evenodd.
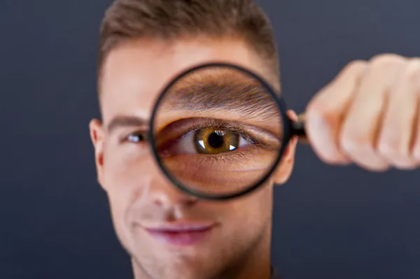
M 244 38 L 279 77 L 272 24 L 253 0 L 116 0 L 102 21 L 98 78 L 106 55 L 120 43 L 203 34 Z

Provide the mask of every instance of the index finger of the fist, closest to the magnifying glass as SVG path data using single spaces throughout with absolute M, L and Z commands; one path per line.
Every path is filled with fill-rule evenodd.
M 307 137 L 316 155 L 328 164 L 350 163 L 339 148 L 339 127 L 366 64 L 364 61 L 351 62 L 307 106 Z

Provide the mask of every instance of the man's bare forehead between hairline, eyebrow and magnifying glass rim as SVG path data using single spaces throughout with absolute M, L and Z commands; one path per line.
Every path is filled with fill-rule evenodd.
M 120 45 L 109 53 L 102 72 L 104 123 L 120 114 L 147 120 L 155 100 L 172 78 L 207 62 L 237 64 L 264 76 L 260 60 L 246 43 L 234 38 L 173 42 L 142 39 Z

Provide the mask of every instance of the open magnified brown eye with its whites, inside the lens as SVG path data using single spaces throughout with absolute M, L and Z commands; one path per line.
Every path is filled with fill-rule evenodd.
M 172 152 L 217 155 L 237 150 L 251 143 L 240 134 L 217 127 L 190 131 L 172 146 Z

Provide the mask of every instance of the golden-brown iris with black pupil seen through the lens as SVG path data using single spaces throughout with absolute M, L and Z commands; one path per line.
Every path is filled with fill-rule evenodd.
M 209 127 L 195 131 L 194 145 L 197 153 L 215 155 L 237 149 L 240 139 L 228 129 Z

